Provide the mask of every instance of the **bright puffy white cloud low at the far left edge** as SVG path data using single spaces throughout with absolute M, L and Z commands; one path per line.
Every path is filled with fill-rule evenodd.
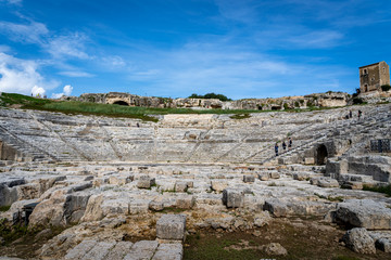
M 34 87 L 50 90 L 56 81 L 47 81 L 38 73 L 39 64 L 0 53 L 0 91 L 29 95 Z

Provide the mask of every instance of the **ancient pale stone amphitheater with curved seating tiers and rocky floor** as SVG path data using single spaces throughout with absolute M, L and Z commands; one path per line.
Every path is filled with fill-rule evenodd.
M 30 250 L 0 237 L 0 259 L 190 259 L 186 237 L 209 233 L 262 237 L 264 258 L 390 259 L 391 199 L 363 191 L 390 183 L 390 109 L 146 122 L 2 108 L 0 219 L 40 232 Z

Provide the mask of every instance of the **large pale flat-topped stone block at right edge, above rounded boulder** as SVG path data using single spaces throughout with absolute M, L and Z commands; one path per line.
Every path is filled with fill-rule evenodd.
M 336 217 L 356 227 L 391 230 L 391 209 L 371 199 L 349 199 L 339 203 Z

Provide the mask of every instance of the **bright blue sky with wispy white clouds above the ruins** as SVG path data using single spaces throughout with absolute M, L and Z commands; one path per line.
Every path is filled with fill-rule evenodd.
M 390 0 L 0 0 L 5 92 L 353 93 L 390 47 Z

